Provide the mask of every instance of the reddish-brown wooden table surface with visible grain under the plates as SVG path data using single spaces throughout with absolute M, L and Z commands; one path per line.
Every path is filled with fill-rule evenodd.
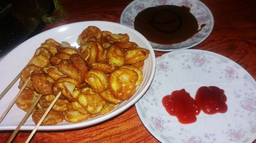
M 60 1 L 66 10 L 63 21 L 47 24 L 44 30 L 78 21 L 120 22 L 123 9 L 131 0 Z M 210 36 L 194 47 L 213 51 L 237 62 L 256 79 L 256 1 L 203 0 L 214 15 Z M 165 52 L 155 51 L 156 56 Z M 0 131 L 5 142 L 12 131 Z M 13 142 L 25 142 L 30 131 L 20 131 Z M 256 134 L 255 134 L 256 138 Z M 158 142 L 140 121 L 135 106 L 104 123 L 69 131 L 38 131 L 31 142 Z

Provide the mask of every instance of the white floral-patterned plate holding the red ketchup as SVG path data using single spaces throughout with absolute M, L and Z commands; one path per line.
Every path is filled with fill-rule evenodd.
M 225 91 L 228 110 L 181 124 L 168 115 L 162 98 L 185 89 L 195 98 L 199 87 L 217 86 Z M 214 52 L 186 49 L 156 59 L 150 88 L 135 104 L 138 115 L 161 142 L 252 142 L 256 137 L 256 82 L 237 63 Z

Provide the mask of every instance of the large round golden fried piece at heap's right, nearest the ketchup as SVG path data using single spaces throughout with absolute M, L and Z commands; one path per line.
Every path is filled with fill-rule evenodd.
M 109 89 L 114 98 L 129 99 L 135 93 L 138 74 L 134 70 L 121 68 L 109 75 Z

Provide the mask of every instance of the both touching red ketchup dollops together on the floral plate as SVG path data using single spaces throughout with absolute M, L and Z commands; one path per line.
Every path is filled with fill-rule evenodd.
M 174 91 L 163 97 L 162 104 L 169 115 L 176 116 L 182 124 L 189 124 L 197 121 L 201 109 L 208 115 L 226 112 L 226 101 L 224 90 L 210 86 L 199 88 L 195 100 L 184 89 Z

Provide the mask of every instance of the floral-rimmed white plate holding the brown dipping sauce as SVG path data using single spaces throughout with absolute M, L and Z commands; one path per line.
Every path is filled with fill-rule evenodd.
M 139 12 L 146 8 L 160 5 L 175 5 L 189 7 L 190 13 L 192 13 L 196 17 L 198 25 L 206 25 L 199 33 L 195 34 L 190 39 L 178 44 L 161 45 L 150 42 L 154 50 L 174 51 L 179 49 L 191 48 L 203 42 L 210 35 L 212 28 L 214 27 L 214 17 L 212 16 L 210 10 L 202 2 L 198 0 L 135 0 L 123 10 L 120 23 L 131 28 L 134 28 L 134 19 Z

